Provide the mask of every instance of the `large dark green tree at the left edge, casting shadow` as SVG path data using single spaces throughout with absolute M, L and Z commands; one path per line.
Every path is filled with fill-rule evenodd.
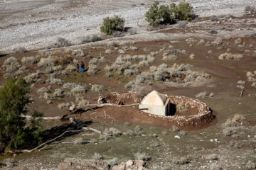
M 29 103 L 26 96 L 29 90 L 30 84 L 22 78 L 8 79 L 0 89 L 0 152 L 18 149 L 30 141 L 41 142 L 43 127 L 39 122 L 43 113 L 35 111 L 30 126 L 26 126 L 25 118 L 21 117 L 28 112 L 25 106 Z

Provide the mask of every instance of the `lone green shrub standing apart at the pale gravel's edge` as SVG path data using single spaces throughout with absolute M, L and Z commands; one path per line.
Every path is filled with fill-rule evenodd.
M 112 35 L 116 31 L 123 31 L 124 23 L 124 18 L 120 18 L 119 16 L 114 16 L 113 18 L 103 18 L 103 23 L 100 27 L 100 31 L 107 35 Z

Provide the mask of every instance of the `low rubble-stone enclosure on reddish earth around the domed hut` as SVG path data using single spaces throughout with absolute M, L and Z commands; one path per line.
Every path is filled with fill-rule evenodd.
M 139 106 L 114 107 L 107 106 L 99 108 L 99 111 L 107 113 L 115 120 L 137 123 L 142 125 L 154 125 L 164 128 L 178 128 L 180 130 L 200 130 L 216 123 L 214 112 L 198 99 L 185 96 L 167 96 L 171 102 L 172 115 L 153 115 L 139 111 Z M 127 94 L 112 93 L 102 96 L 106 103 L 119 105 L 129 105 L 139 103 L 140 100 L 136 94 L 129 92 Z M 138 104 L 139 105 L 139 104 Z M 178 106 L 183 107 L 179 111 Z

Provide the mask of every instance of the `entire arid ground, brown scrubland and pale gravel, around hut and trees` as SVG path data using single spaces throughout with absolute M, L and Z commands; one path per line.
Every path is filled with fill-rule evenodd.
M 9 77 L 32 84 L 28 109 L 44 113 L 43 142 L 76 130 L 1 154 L 0 169 L 255 169 L 256 13 L 244 11 L 255 2 L 188 2 L 193 21 L 151 30 L 148 0 L 0 1 L 1 86 Z M 126 19 L 122 36 L 100 33 L 113 15 Z M 103 40 L 81 42 L 93 34 Z M 170 116 L 195 124 L 139 111 L 153 90 L 206 103 L 210 116 L 186 100 Z

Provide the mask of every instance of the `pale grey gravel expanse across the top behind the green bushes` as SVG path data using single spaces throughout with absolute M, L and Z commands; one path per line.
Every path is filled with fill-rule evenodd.
M 169 1 L 164 1 L 169 3 Z M 178 1 L 176 1 L 178 2 Z M 253 0 L 220 1 L 193 0 L 199 16 L 241 16 L 244 7 Z M 59 38 L 77 44 L 82 36 L 100 34 L 102 18 L 119 15 L 126 25 L 137 28 L 136 38 L 149 39 L 144 13 L 153 1 L 0 1 L 0 52 L 17 47 L 35 50 L 48 47 Z M 139 27 L 142 26 L 142 27 Z M 156 35 L 158 38 L 164 35 Z

